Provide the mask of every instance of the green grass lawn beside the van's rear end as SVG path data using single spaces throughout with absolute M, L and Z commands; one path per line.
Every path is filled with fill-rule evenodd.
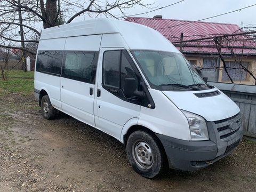
M 0 80 L 0 94 L 22 93 L 27 95 L 34 91 L 34 71 L 10 70 L 7 81 Z

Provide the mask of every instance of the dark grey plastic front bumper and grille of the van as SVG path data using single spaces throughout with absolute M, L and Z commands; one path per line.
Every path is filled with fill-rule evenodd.
M 227 124 L 237 122 L 237 130 L 223 130 Z M 156 134 L 161 140 L 172 169 L 194 171 L 202 169 L 233 151 L 243 137 L 240 115 L 225 122 L 207 122 L 209 140 L 185 141 Z M 225 132 L 225 134 L 223 134 Z M 232 133 L 232 134 L 231 134 Z M 223 135 L 226 135 L 223 138 Z

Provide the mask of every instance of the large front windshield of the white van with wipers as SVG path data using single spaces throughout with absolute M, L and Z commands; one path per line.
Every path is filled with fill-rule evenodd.
M 180 53 L 149 50 L 131 52 L 154 89 L 180 91 L 210 89 Z

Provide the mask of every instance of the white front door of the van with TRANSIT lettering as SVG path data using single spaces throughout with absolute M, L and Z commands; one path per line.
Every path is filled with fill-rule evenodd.
M 138 120 L 141 108 L 139 99 L 125 98 L 124 79 L 135 78 L 139 85 L 140 77 L 134 72 L 136 67 L 126 50 L 108 48 L 100 52 L 95 125 L 120 140 L 123 126 L 132 118 Z

